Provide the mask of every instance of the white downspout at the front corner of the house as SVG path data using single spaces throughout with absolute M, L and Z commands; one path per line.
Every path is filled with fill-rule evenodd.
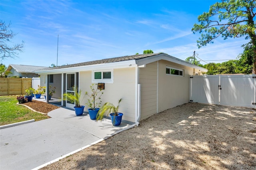
M 140 84 L 138 84 L 139 70 L 135 67 L 135 124 L 139 126 L 140 121 Z

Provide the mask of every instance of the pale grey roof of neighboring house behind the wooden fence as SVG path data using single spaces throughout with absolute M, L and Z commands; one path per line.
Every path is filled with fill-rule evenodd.
M 18 73 L 34 73 L 34 71 L 36 71 L 36 70 L 46 69 L 46 68 L 49 68 L 49 67 L 10 64 L 7 67 L 6 71 L 10 71 L 12 68 L 15 69 Z

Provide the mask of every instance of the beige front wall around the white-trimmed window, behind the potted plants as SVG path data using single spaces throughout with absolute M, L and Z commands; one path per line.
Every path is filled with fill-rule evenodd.
M 99 82 L 101 83 L 101 82 Z M 96 84 L 96 83 L 94 83 Z M 92 71 L 80 72 L 80 89 L 82 93 L 90 93 L 92 85 Z M 135 68 L 114 69 L 114 83 L 105 83 L 105 89 L 102 90 L 102 105 L 106 102 L 117 104 L 118 99 L 122 98 L 119 112 L 124 113 L 123 120 L 135 121 Z M 82 100 L 85 105 L 88 97 Z M 86 106 L 86 110 L 88 106 Z

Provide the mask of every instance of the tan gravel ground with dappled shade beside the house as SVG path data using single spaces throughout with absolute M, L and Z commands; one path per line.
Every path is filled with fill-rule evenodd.
M 42 170 L 255 170 L 256 111 L 187 103 Z

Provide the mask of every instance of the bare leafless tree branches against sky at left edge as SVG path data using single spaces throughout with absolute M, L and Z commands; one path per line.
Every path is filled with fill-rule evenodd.
M 14 38 L 16 34 L 9 29 L 10 24 L 5 24 L 0 20 L 0 56 L 1 61 L 6 57 L 17 57 L 18 52 L 22 52 L 24 42 L 20 44 L 13 44 L 10 40 Z

